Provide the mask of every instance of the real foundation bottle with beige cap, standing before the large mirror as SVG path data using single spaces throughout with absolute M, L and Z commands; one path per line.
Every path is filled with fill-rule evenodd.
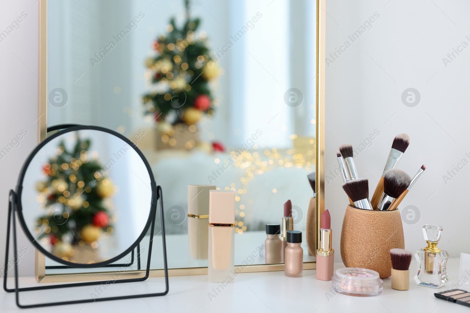
M 209 191 L 209 282 L 233 282 L 235 272 L 235 191 Z

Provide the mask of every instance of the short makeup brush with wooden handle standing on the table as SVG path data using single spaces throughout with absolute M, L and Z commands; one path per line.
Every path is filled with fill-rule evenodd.
M 411 252 L 404 249 L 390 249 L 392 260 L 392 288 L 408 290 L 410 288 Z

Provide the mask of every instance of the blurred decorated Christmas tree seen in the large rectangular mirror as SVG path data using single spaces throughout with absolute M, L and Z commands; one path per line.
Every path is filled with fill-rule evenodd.
M 164 130 L 170 127 L 164 126 L 165 122 L 192 125 L 204 112 L 214 113 L 209 81 L 219 75 L 219 67 L 209 57 L 205 32 L 196 32 L 200 19 L 190 18 L 189 0 L 184 2 L 184 24 L 178 28 L 172 17 L 166 34 L 160 34 L 151 44 L 155 56 L 146 60 L 152 87 L 142 100 L 146 114 L 153 114 Z

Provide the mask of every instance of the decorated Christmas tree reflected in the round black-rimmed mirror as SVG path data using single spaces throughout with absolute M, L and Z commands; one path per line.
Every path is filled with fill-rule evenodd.
M 46 214 L 36 220 L 35 232 L 41 243 L 50 240 L 53 253 L 62 258 L 73 255 L 71 243 L 96 248 L 100 237 L 109 238 L 113 232 L 105 201 L 114 186 L 100 172 L 98 153 L 88 153 L 89 146 L 90 139 L 78 135 L 70 150 L 62 141 L 42 168 L 47 180 L 36 185 Z

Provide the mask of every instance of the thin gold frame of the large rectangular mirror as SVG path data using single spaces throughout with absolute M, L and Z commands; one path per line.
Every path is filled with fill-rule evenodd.
M 326 0 L 318 0 L 316 2 L 316 232 L 317 240 L 315 250 L 320 242 L 320 217 L 324 211 L 324 187 L 325 187 L 325 65 L 323 60 L 325 57 L 325 37 L 326 37 Z M 38 144 L 46 138 L 47 135 L 47 0 L 39 1 L 39 38 L 38 38 Z M 37 282 L 77 282 L 90 280 L 109 280 L 115 272 L 97 272 L 97 273 L 74 273 L 74 274 L 46 274 L 45 256 L 36 251 L 35 257 L 35 278 Z M 316 262 L 304 262 L 303 269 L 315 269 Z M 240 271 L 242 269 L 242 271 Z M 283 271 L 284 264 L 256 264 L 247 266 L 235 266 L 235 272 L 254 273 L 254 272 L 271 272 Z M 123 271 L 122 278 L 141 277 L 141 273 L 145 270 L 129 270 Z M 168 269 L 169 276 L 186 276 L 186 275 L 207 275 L 207 267 L 191 267 L 191 268 L 171 268 Z M 115 276 L 115 275 L 114 275 Z M 113 277 L 114 277 L 113 276 Z M 149 277 L 163 277 L 164 270 L 150 270 Z

